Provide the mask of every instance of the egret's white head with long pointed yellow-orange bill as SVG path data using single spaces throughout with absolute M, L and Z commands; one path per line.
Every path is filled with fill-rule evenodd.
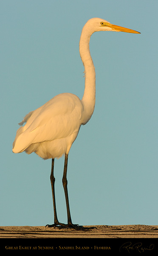
M 92 18 L 88 20 L 84 27 L 91 34 L 97 31 L 116 31 L 116 32 L 121 31 L 121 32 L 127 32 L 127 33 L 140 34 L 140 32 L 135 31 L 133 29 L 127 29 L 121 26 L 113 25 L 107 20 L 103 20 L 100 18 Z

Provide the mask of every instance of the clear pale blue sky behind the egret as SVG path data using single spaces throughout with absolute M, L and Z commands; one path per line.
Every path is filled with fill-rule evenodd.
M 96 107 L 68 159 L 74 224 L 158 225 L 158 1 L 0 0 L 0 225 L 54 222 L 51 160 L 13 154 L 25 114 L 53 96 L 82 98 L 79 38 L 88 19 L 141 32 L 96 32 Z M 56 205 L 66 222 L 64 157 L 55 160 Z

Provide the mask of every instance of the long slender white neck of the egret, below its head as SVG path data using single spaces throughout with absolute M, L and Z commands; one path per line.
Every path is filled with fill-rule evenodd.
M 92 116 L 96 101 L 96 73 L 89 49 L 91 34 L 86 27 L 83 27 L 79 41 L 79 53 L 85 67 L 85 91 L 82 98 L 84 107 L 83 124 L 87 123 Z

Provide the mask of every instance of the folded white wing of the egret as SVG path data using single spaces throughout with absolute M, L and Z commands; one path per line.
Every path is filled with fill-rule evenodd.
M 32 143 L 68 137 L 81 125 L 83 106 L 71 93 L 62 93 L 35 111 L 28 113 L 24 127 L 20 127 L 14 140 L 14 152 L 22 152 Z

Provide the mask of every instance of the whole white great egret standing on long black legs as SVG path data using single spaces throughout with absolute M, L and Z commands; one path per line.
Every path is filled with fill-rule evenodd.
M 40 108 L 28 113 L 19 125 L 13 143 L 13 152 L 27 154 L 35 152 L 43 159 L 52 158 L 51 186 L 54 204 L 54 224 L 48 227 L 71 227 L 83 230 L 82 226 L 73 224 L 71 221 L 70 207 L 67 189 L 67 165 L 68 153 L 71 145 L 76 139 L 81 125 L 85 125 L 91 118 L 96 99 L 96 74 L 92 58 L 90 56 L 90 36 L 97 31 L 122 31 L 128 33 L 139 33 L 132 29 L 116 26 L 100 18 L 92 18 L 87 21 L 82 29 L 79 52 L 85 67 L 85 91 L 80 100 L 71 93 L 62 93 L 46 102 Z M 56 213 L 54 192 L 54 158 L 65 154 L 65 164 L 62 183 L 65 191 L 65 200 L 68 215 L 68 224 L 58 221 Z

